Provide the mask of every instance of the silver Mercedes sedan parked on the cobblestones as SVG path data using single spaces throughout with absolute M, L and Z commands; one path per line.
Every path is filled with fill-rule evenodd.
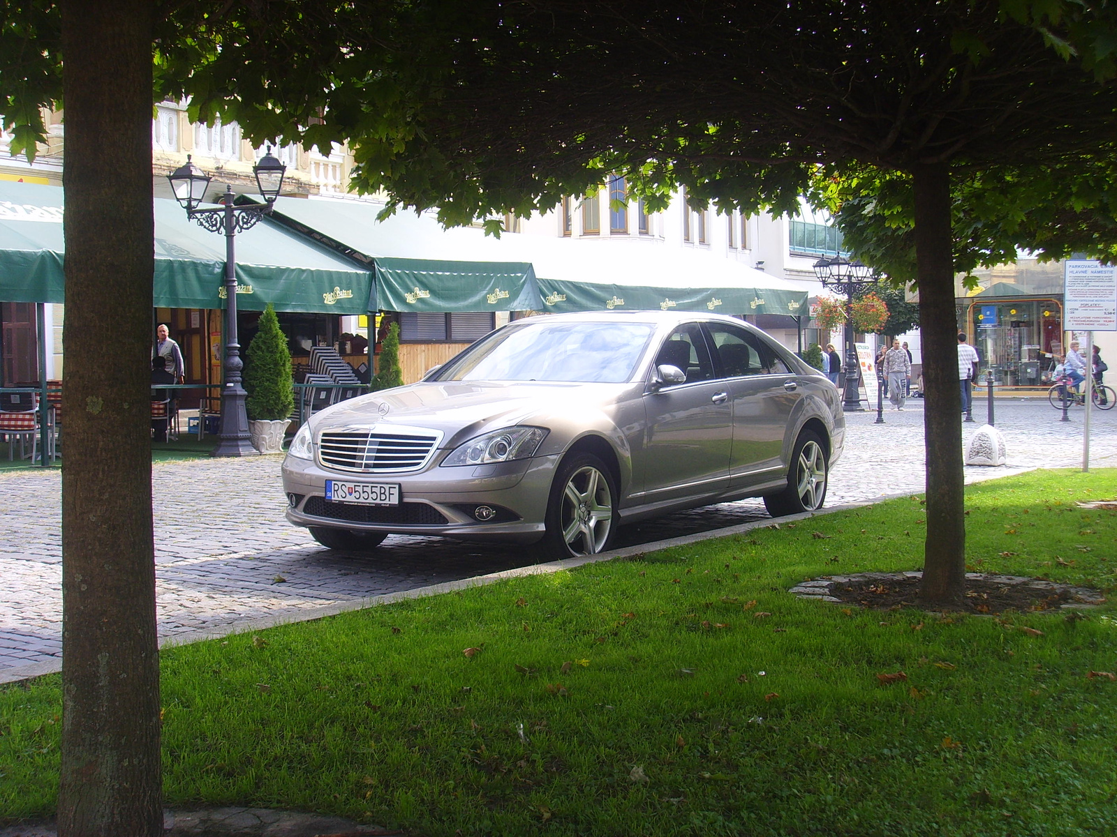
M 833 384 L 738 319 L 529 317 L 315 414 L 283 463 L 287 519 L 334 549 L 439 535 L 566 558 L 678 509 L 818 509 L 844 429 Z

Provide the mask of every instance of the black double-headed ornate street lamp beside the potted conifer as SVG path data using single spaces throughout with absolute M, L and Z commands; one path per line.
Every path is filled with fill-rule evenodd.
M 246 393 L 240 383 L 240 371 L 245 364 L 240 359 L 240 344 L 237 341 L 237 256 L 233 239 L 238 232 L 256 225 L 260 218 L 271 212 L 283 187 L 283 175 L 286 170 L 287 166 L 271 156 L 269 148 L 252 166 L 260 196 L 265 200 L 264 205 L 235 206 L 232 187 L 226 185 L 225 194 L 220 199 L 223 205 L 214 209 L 199 209 L 210 179 L 190 161 L 189 154 L 185 165 L 179 166 L 174 174 L 166 175 L 171 181 L 174 198 L 187 211 L 187 217 L 210 232 L 225 234 L 225 385 L 221 387 L 221 429 L 218 434 L 220 441 L 213 450 L 214 456 L 246 456 L 256 453 L 248 434 Z

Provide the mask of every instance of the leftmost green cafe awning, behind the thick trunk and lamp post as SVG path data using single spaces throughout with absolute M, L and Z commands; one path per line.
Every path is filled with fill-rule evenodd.
M 61 302 L 63 190 L 0 181 L 0 300 Z M 154 305 L 223 308 L 225 239 L 156 199 Z M 307 314 L 366 314 L 372 273 L 269 219 L 237 235 L 237 306 Z

